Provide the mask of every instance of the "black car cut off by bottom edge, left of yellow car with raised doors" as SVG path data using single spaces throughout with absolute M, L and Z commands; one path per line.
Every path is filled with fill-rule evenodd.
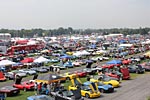
M 80 89 L 73 91 L 62 89 L 58 92 L 52 92 L 52 95 L 55 97 L 55 100 L 84 100 Z

